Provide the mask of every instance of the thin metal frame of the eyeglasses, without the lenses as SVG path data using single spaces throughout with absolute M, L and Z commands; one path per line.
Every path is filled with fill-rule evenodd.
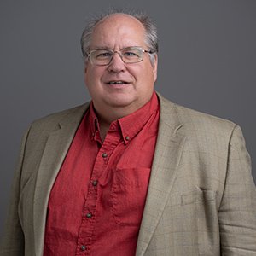
M 113 60 L 113 55 L 114 55 L 115 53 L 117 53 L 117 54 L 119 55 L 120 59 L 121 59 L 125 64 L 133 64 L 133 63 L 138 63 L 138 62 L 143 61 L 144 55 L 142 55 L 142 59 L 139 60 L 139 61 L 125 62 L 125 61 L 123 60 L 123 55 L 122 55 L 121 51 L 124 50 L 124 49 L 134 49 L 134 48 L 142 50 L 143 54 L 144 54 L 144 53 L 148 53 L 148 54 L 152 55 L 152 54 L 155 53 L 155 51 L 153 51 L 153 50 L 143 49 L 143 48 L 140 47 L 140 46 L 130 46 L 130 47 L 125 47 L 125 48 L 119 49 L 119 50 L 113 50 L 113 49 L 91 49 L 89 53 L 86 53 L 86 55 L 87 55 L 87 58 L 90 60 L 90 64 L 91 64 L 91 65 L 95 65 L 95 66 L 107 66 L 107 65 L 109 65 L 110 62 Z M 97 50 L 107 50 L 107 51 L 109 51 L 109 52 L 112 53 L 112 56 L 111 56 L 111 58 L 109 59 L 109 62 L 108 62 L 107 64 L 95 64 L 95 63 L 92 63 L 92 61 L 91 61 L 91 59 L 90 59 L 90 55 L 91 55 L 92 52 L 95 52 L 95 51 L 97 51 Z

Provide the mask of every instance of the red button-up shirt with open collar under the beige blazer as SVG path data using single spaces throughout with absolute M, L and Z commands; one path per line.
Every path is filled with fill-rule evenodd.
M 135 255 L 159 110 L 154 93 L 102 142 L 90 104 L 49 196 L 44 256 Z

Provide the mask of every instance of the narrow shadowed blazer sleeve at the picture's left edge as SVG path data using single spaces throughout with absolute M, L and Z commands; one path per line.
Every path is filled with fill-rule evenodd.
M 20 201 L 20 176 L 28 133 L 29 130 L 26 131 L 21 143 L 20 158 L 16 165 L 15 177 L 11 189 L 8 216 L 0 244 L 0 256 L 24 255 L 25 239 L 20 225 L 18 206 Z

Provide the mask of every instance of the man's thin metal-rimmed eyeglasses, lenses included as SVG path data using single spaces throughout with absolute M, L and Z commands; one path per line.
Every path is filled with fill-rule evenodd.
M 103 66 L 108 65 L 112 61 L 115 53 L 117 53 L 125 63 L 137 63 L 143 61 L 144 53 L 153 54 L 154 52 L 142 49 L 141 47 L 128 47 L 120 50 L 92 49 L 87 56 L 91 64 Z

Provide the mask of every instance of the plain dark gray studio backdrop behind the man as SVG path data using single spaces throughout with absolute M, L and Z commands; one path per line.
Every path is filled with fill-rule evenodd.
M 156 89 L 172 102 L 241 125 L 256 160 L 255 0 L 1 0 L 0 231 L 26 127 L 90 99 L 79 38 L 86 18 L 109 7 L 152 16 L 160 38 Z

